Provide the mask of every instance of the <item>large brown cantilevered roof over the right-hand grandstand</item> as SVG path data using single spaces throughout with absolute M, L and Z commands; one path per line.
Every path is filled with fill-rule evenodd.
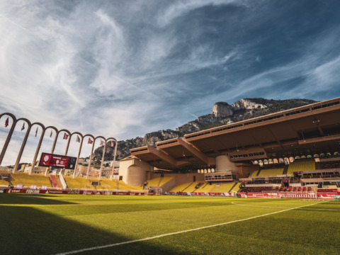
M 132 155 L 161 169 L 215 164 L 229 155 L 233 162 L 339 152 L 340 98 L 194 132 L 183 139 L 157 142 L 157 149 L 131 149 Z

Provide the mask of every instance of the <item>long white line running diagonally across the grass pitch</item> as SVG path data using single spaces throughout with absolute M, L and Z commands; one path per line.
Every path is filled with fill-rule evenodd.
M 328 202 L 328 201 L 322 201 L 322 202 L 319 202 L 319 203 L 325 203 L 325 202 Z M 313 203 L 313 204 L 310 204 L 310 205 L 317 205 L 319 203 Z M 234 221 L 231 221 L 231 222 L 224 222 L 224 223 L 219 223 L 219 224 L 205 226 L 205 227 L 198 227 L 196 229 L 188 229 L 188 230 L 183 230 L 183 231 L 173 232 L 173 233 L 168 233 L 168 234 L 159 234 L 159 235 L 154 236 L 154 237 L 146 237 L 146 238 L 135 239 L 135 240 L 127 241 L 127 242 L 120 242 L 120 243 L 115 243 L 115 244 L 107 244 L 107 245 L 103 245 L 103 246 L 95 246 L 95 247 L 91 247 L 91 248 L 79 249 L 79 250 L 74 250 L 74 251 L 66 251 L 66 252 L 62 252 L 60 254 L 55 254 L 55 255 L 77 254 L 77 253 L 80 253 L 80 252 L 83 252 L 83 251 L 93 251 L 93 250 L 96 250 L 96 249 L 103 249 L 103 248 L 108 248 L 108 247 L 113 247 L 113 246 L 118 246 L 118 245 L 123 245 L 123 244 L 132 244 L 132 243 L 135 243 L 135 242 L 142 242 L 142 241 L 147 241 L 147 240 L 150 240 L 150 239 L 156 239 L 156 238 L 160 238 L 160 237 L 168 237 L 168 236 L 171 236 L 171 235 L 174 235 L 174 234 L 181 234 L 181 233 L 192 232 L 192 231 L 196 231 L 196 230 L 200 230 L 200 229 L 206 229 L 206 228 L 210 228 L 210 227 L 217 227 L 217 226 L 227 225 L 227 224 L 231 224 L 231 223 L 234 223 L 234 222 L 242 222 L 242 221 L 245 221 L 245 220 L 252 220 L 252 219 L 256 219 L 258 217 L 264 217 L 264 216 L 268 216 L 268 215 L 273 215 L 273 214 L 276 214 L 276 213 L 279 213 L 279 212 L 286 212 L 288 210 L 294 210 L 294 209 L 297 209 L 297 208 L 303 208 L 303 207 L 310 206 L 310 205 L 302 205 L 302 206 L 298 206 L 296 208 L 289 208 L 289 209 L 285 209 L 285 210 L 280 210 L 278 212 L 270 212 L 270 213 L 266 213 L 264 215 L 258 215 L 258 216 L 254 216 L 254 217 L 249 217 L 249 218 L 242 219 L 242 220 L 234 220 Z

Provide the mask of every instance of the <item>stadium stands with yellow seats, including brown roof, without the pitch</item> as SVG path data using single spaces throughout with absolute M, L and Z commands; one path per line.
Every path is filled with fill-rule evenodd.
M 334 98 L 130 149 L 118 179 L 2 171 L 0 186 L 187 195 L 337 190 L 339 114 Z

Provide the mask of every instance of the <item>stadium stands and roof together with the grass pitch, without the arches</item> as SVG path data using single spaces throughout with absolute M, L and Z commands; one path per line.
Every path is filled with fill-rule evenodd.
M 131 149 L 117 179 L 1 171 L 1 254 L 339 254 L 339 114 L 334 98 Z

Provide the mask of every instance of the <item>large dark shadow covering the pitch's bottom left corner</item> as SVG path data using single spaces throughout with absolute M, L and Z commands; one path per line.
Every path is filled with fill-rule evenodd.
M 37 198 L 38 199 L 38 198 Z M 27 206 L 0 205 L 0 254 L 58 254 L 66 251 L 130 241 L 112 232 L 83 225 Z M 113 228 L 114 229 L 114 228 Z M 133 234 L 133 233 L 132 233 Z M 80 254 L 176 254 L 145 242 L 123 244 Z

